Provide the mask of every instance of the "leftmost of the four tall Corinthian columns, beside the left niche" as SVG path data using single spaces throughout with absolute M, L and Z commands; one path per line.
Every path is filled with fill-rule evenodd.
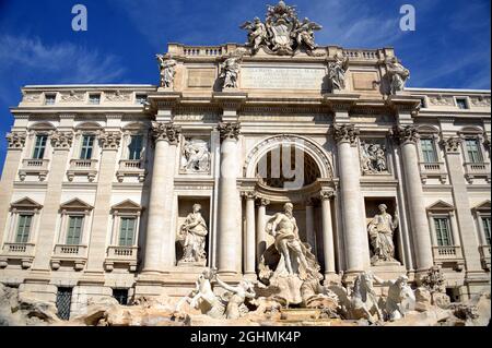
M 172 122 L 154 122 L 154 164 L 149 199 L 143 272 L 163 272 L 174 265 L 175 233 L 171 229 L 174 164 L 180 128 Z M 166 213 L 166 209 L 168 211 Z

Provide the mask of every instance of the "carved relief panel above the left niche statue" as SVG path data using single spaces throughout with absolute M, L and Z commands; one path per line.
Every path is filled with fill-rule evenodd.
M 183 146 L 181 168 L 186 172 L 207 172 L 210 169 L 209 144 L 199 139 L 191 139 Z

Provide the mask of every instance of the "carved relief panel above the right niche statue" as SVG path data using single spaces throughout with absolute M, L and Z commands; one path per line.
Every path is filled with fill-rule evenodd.
M 361 140 L 361 169 L 366 175 L 388 175 L 387 146 L 384 140 Z

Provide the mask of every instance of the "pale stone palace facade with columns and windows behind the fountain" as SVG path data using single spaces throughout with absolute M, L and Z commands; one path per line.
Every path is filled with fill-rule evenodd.
M 440 265 L 452 298 L 490 289 L 490 91 L 398 91 L 408 71 L 390 48 L 253 39 L 169 44 L 161 86 L 23 87 L 0 184 L 0 281 L 49 302 L 71 289 L 77 314 L 115 290 L 186 296 L 204 266 L 256 280 L 266 224 L 292 202 L 326 281 L 372 271 L 419 283 Z M 179 262 L 195 204 L 204 249 Z M 380 204 L 394 250 L 373 262 Z

